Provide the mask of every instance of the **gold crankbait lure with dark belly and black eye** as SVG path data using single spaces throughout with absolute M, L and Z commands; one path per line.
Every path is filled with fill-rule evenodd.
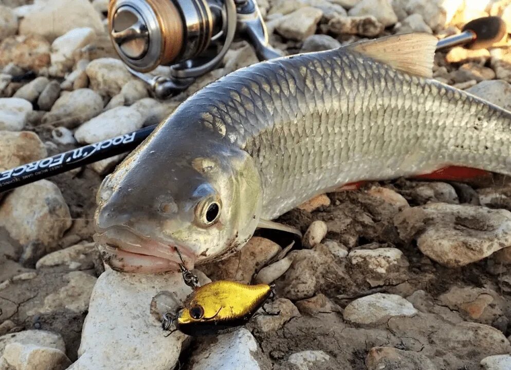
M 190 336 L 210 335 L 242 326 L 273 293 L 267 284 L 247 285 L 227 280 L 198 286 L 197 277 L 184 264 L 180 267 L 185 283 L 193 288 L 193 292 L 177 313 L 163 315 L 161 325 L 164 330 L 175 325 L 169 335 L 176 330 Z

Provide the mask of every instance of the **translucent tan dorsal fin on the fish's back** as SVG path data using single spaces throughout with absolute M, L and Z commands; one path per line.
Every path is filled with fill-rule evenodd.
M 437 38 L 429 33 L 407 33 L 364 41 L 346 48 L 400 71 L 430 79 L 437 42 Z

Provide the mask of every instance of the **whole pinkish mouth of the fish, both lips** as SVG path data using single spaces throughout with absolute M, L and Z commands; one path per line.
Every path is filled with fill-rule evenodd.
M 196 256 L 187 246 L 140 236 L 125 227 L 112 226 L 97 232 L 94 240 L 99 243 L 103 262 L 122 272 L 154 273 L 179 270 L 181 259 L 193 268 Z

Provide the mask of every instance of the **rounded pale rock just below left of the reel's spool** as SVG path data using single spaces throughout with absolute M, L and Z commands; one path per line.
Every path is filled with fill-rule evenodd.
M 90 88 L 103 96 L 114 96 L 135 77 L 119 59 L 100 58 L 90 62 L 85 69 Z

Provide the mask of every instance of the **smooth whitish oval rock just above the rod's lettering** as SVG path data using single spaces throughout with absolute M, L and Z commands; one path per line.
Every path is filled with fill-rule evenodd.
M 75 131 L 75 138 L 79 143 L 92 144 L 138 130 L 143 123 L 142 116 L 135 109 L 116 107 L 81 125 Z

